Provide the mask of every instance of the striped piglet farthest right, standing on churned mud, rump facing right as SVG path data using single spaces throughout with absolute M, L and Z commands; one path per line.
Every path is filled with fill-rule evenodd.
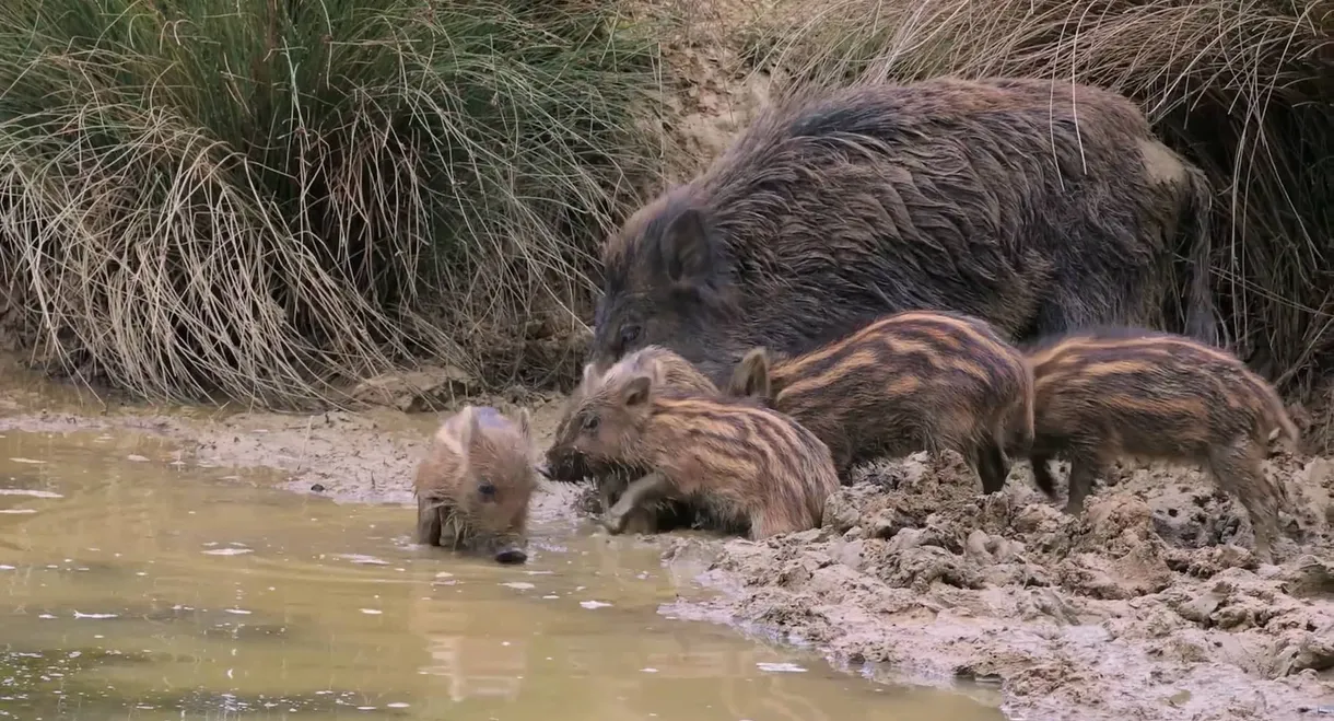
M 1069 513 L 1118 457 L 1205 466 L 1250 515 L 1255 553 L 1271 558 L 1282 487 L 1262 461 L 1275 430 L 1301 442 L 1274 389 L 1235 356 L 1181 335 L 1095 328 L 1029 351 L 1034 373 L 1033 473 L 1049 497 L 1047 467 L 1070 461 Z

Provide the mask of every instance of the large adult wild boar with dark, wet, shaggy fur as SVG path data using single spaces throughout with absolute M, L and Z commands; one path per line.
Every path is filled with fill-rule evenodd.
M 1134 322 L 1214 342 L 1210 196 L 1113 92 L 1029 79 L 810 91 L 606 242 L 590 358 L 659 344 L 720 385 L 748 348 L 795 355 L 912 308 L 1011 339 Z M 1189 292 L 1178 252 L 1193 258 Z

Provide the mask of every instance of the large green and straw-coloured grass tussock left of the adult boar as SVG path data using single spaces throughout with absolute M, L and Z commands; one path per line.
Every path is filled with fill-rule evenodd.
M 149 398 L 552 370 L 656 87 L 610 1 L 8 0 L 5 291 L 40 358 Z

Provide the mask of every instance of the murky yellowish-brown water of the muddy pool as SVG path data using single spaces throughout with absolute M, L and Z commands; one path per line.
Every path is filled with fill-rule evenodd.
M 539 527 L 503 567 L 410 546 L 412 514 L 5 433 L 0 718 L 1000 718 L 667 618 L 682 581 L 632 539 Z

